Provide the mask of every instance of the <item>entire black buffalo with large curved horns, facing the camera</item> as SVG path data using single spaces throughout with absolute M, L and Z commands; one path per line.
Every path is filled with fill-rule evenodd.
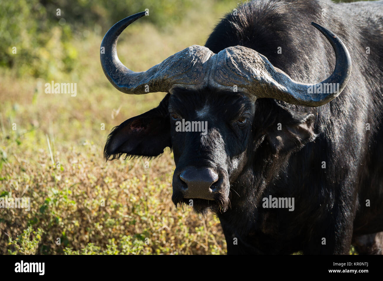
M 106 33 L 101 65 L 122 92 L 168 94 L 113 129 L 105 158 L 170 147 L 173 202 L 216 212 L 228 254 L 381 253 L 383 2 L 249 2 L 205 47 L 136 73 L 116 42 L 144 15 Z

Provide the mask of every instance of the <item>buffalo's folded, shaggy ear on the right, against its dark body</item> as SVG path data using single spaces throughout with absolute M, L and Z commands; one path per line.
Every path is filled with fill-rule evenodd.
M 275 153 L 298 151 L 318 136 L 314 132 L 314 115 L 280 108 L 274 124 L 266 129 L 268 143 Z

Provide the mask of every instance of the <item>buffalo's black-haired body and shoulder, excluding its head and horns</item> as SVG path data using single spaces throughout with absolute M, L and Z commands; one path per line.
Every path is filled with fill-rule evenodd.
M 298 209 L 249 208 L 246 212 L 254 214 L 251 221 L 238 219 L 242 207 L 219 215 L 228 252 L 347 254 L 353 234 L 383 231 L 383 2 L 254 1 L 239 7 L 237 13 L 217 25 L 206 47 L 217 53 L 243 45 L 265 55 L 296 81 L 321 81 L 334 69 L 335 57 L 326 39 L 309 25 L 315 21 L 341 37 L 353 69 L 345 90 L 324 106 L 277 102 L 316 116 L 318 138 L 292 155 L 273 181 L 261 184 L 259 163 L 232 188 L 240 191 L 241 186 L 261 184 L 262 197 L 295 197 Z M 282 54 L 277 53 L 278 47 Z M 322 161 L 326 169 L 321 168 Z M 277 173 L 275 169 L 273 174 Z M 245 191 L 240 195 L 254 196 Z M 367 199 L 373 202 L 371 207 L 366 207 Z M 240 237 L 247 246 L 232 245 L 232 237 Z M 322 237 L 326 245 L 321 244 Z

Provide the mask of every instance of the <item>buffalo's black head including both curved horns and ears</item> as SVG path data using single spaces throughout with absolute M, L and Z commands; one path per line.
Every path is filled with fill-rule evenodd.
M 252 171 L 255 161 L 264 161 L 257 167 L 266 170 L 276 155 L 283 157 L 315 139 L 312 114 L 281 110 L 280 106 L 270 112 L 270 107 L 277 107 L 272 101 L 324 105 L 337 95 L 326 91 L 310 94 L 309 89 L 337 84 L 339 94 L 350 77 L 346 47 L 316 23 L 313 26 L 329 40 L 336 54 L 334 72 L 316 84 L 293 81 L 266 57 L 242 46 L 215 54 L 193 45 L 147 71 L 134 72 L 119 61 L 116 44 L 121 32 L 144 15 L 137 13 L 111 27 L 101 43 L 105 48 L 101 65 L 121 92 L 168 94 L 157 108 L 115 127 L 106 142 L 104 157 L 156 157 L 170 147 L 176 164 L 172 200 L 176 205 L 193 200 L 197 212 L 209 208 L 224 212 L 233 196 L 246 192 L 234 189 L 235 184 L 241 185 L 244 178 L 259 180 Z M 268 99 L 269 112 L 257 103 L 261 98 L 272 98 Z M 278 120 L 283 120 L 283 128 L 275 125 Z

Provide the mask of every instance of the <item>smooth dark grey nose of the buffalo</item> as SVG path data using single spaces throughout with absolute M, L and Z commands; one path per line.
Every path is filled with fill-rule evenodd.
M 214 200 L 214 182 L 218 181 L 218 174 L 211 168 L 189 167 L 182 171 L 180 179 L 186 183 L 183 189 L 184 198 L 201 198 Z

